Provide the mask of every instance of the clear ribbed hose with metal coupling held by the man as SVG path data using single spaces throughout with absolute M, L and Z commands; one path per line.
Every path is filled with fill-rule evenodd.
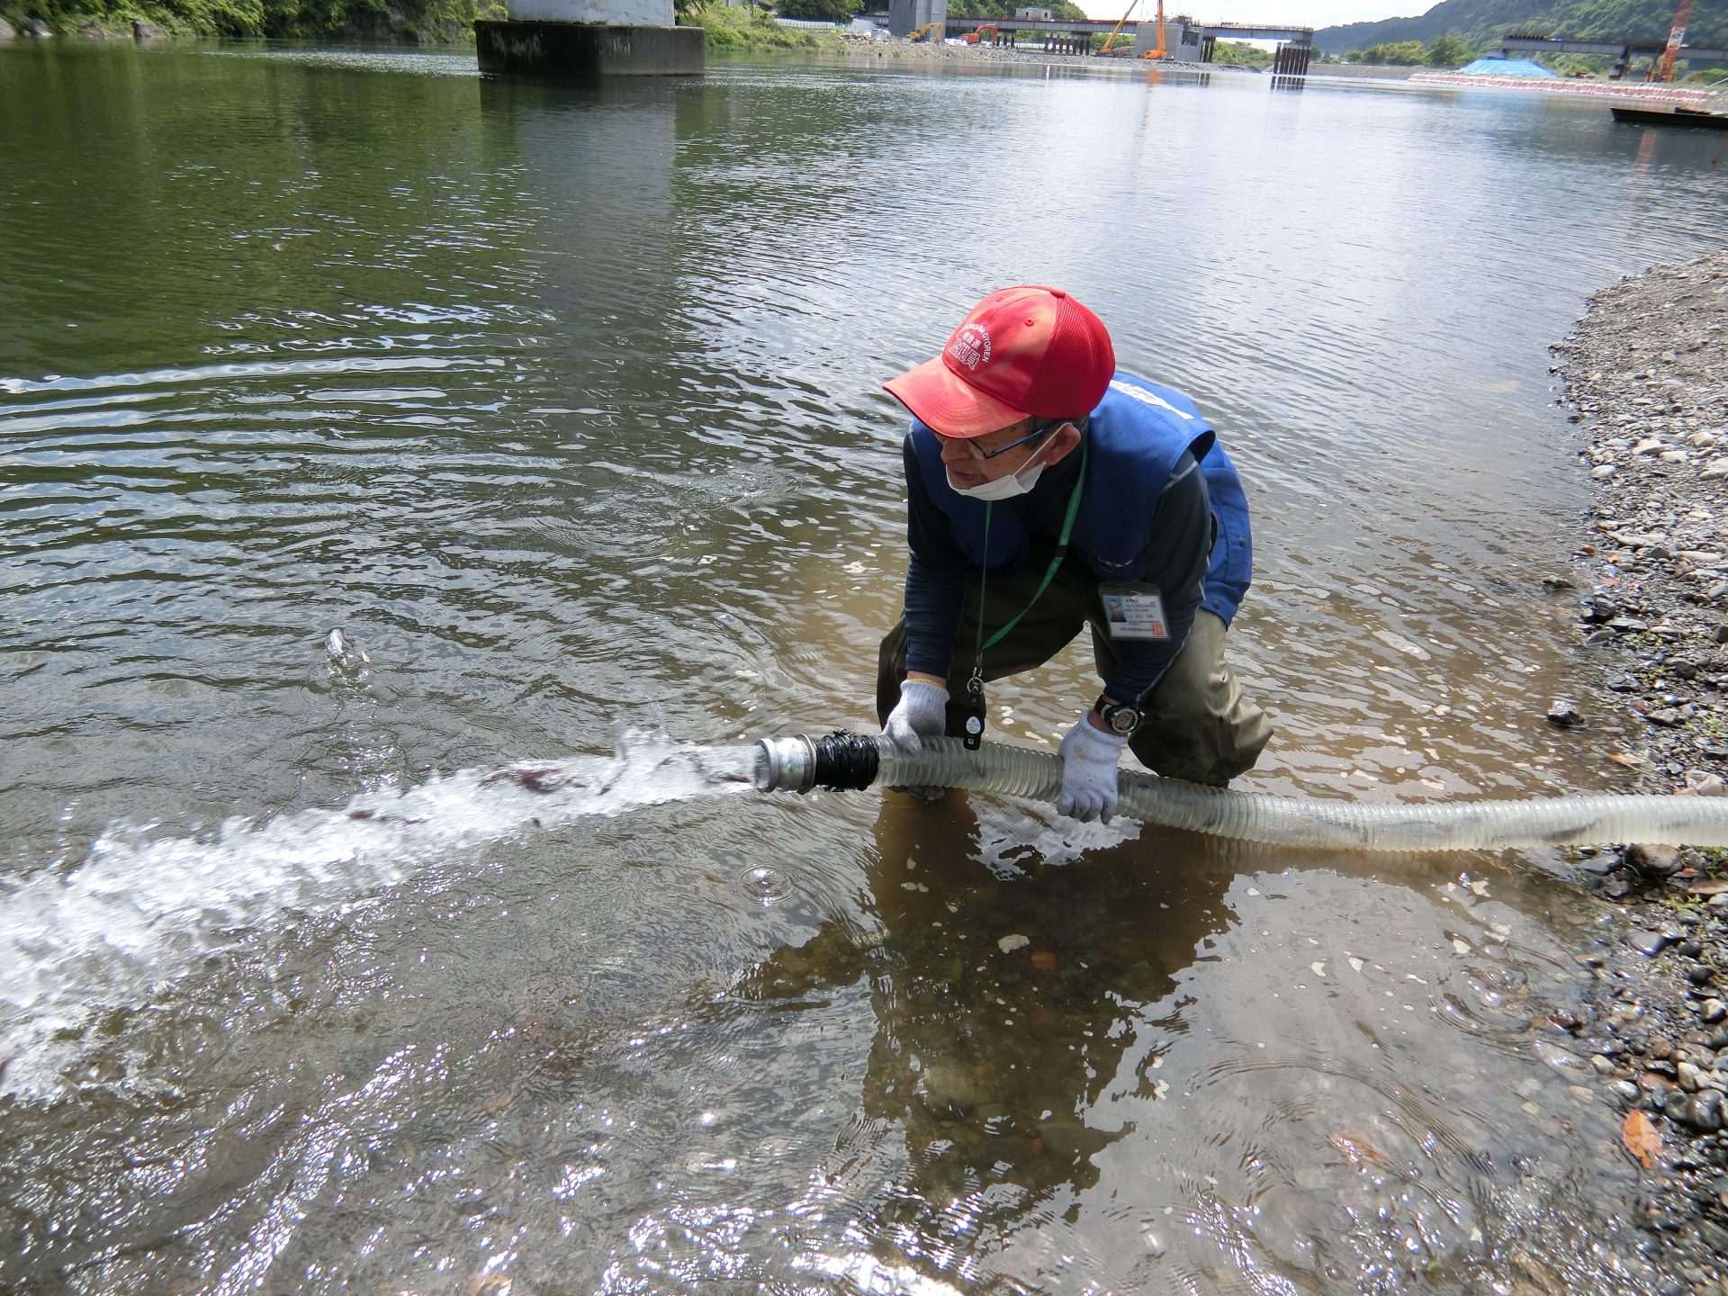
M 760 791 L 814 788 L 969 788 L 1054 802 L 1063 762 L 1054 752 L 959 738 L 926 738 L 902 752 L 885 734 L 764 738 L 752 778 Z M 1332 850 L 1507 850 L 1645 842 L 1728 847 L 1728 798 L 1578 795 L 1533 800 L 1405 805 L 1303 800 L 1208 788 L 1154 774 L 1120 772 L 1120 812 L 1163 828 Z

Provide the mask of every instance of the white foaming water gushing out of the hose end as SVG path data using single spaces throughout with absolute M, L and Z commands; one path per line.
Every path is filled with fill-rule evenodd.
M 59 1089 L 67 1039 L 285 914 L 340 911 L 472 847 L 586 816 L 748 791 L 750 748 L 626 734 L 615 757 L 461 771 L 207 836 L 109 829 L 0 895 L 0 1092 Z

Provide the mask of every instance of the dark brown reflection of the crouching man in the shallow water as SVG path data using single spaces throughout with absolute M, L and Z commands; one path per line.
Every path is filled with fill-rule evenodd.
M 1059 1217 L 1096 1184 L 1094 1156 L 1121 1128 L 1087 1118 L 1123 1070 L 1144 1077 L 1161 1063 L 1137 1018 L 1223 921 L 1198 890 L 1172 911 L 1159 874 L 1130 850 L 1094 850 L 1071 867 L 1033 857 L 1033 874 L 1007 883 L 980 869 L 964 800 L 886 797 L 864 926 L 826 921 L 745 988 L 797 1001 L 869 987 L 876 1042 L 861 1115 L 904 1130 L 909 1161 L 878 1225 L 930 1258 L 969 1251 L 954 1234 L 985 1217 L 1004 1234 L 1030 1213 Z

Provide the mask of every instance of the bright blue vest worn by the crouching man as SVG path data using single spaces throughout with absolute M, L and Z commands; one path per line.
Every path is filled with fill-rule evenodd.
M 1151 541 L 1158 499 L 1177 461 L 1189 453 L 1206 479 L 1217 524 L 1201 607 L 1229 626 L 1253 579 L 1253 539 L 1248 496 L 1211 425 L 1173 387 L 1118 370 L 1087 422 L 1087 441 L 1085 487 L 1070 553 L 1101 581 L 1139 581 L 1146 575 L 1142 555 Z M 990 551 L 985 553 L 983 501 L 968 499 L 949 486 L 942 442 L 916 418 L 912 448 L 930 499 L 947 517 L 961 551 L 976 567 L 992 570 L 1023 562 L 1028 543 L 1018 513 L 1013 508 L 992 511 Z

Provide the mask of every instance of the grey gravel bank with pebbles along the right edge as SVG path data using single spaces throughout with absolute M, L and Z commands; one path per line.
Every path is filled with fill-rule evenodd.
M 1602 689 L 1557 724 L 1623 724 L 1628 790 L 1723 795 L 1728 776 L 1728 252 L 1598 292 L 1557 349 L 1591 479 L 1579 651 Z M 1572 1052 L 1643 1165 L 1635 1220 L 1664 1291 L 1728 1296 L 1728 852 L 1581 859 L 1612 902 Z

